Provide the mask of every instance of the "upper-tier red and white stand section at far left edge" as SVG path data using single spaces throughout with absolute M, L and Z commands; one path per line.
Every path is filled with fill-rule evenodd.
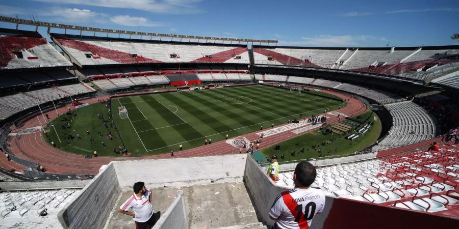
M 0 69 L 71 65 L 38 32 L 0 28 Z

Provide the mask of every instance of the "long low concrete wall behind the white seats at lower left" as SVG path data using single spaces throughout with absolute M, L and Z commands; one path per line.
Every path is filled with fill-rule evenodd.
M 72 180 L 72 181 L 19 181 L 19 182 L 1 182 L 2 190 L 31 190 L 31 189 L 59 189 L 59 188 L 83 188 L 91 180 Z

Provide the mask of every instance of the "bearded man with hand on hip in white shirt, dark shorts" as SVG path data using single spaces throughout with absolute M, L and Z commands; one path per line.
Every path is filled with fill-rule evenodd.
M 132 212 L 129 210 L 132 208 Z M 134 194 L 122 204 L 118 212 L 134 217 L 136 229 L 150 229 L 155 225 L 153 206 L 151 206 L 151 190 L 145 188 L 145 183 L 134 184 Z

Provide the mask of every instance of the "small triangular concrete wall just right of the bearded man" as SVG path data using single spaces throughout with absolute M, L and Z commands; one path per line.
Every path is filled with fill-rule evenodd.
M 177 196 L 172 205 L 161 216 L 153 229 L 186 229 L 188 228 L 187 212 L 185 210 L 185 198 Z

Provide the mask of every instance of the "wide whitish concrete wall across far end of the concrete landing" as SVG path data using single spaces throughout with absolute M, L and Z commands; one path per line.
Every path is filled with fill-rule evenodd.
M 247 155 L 112 162 L 123 190 L 145 182 L 148 188 L 241 182 Z

